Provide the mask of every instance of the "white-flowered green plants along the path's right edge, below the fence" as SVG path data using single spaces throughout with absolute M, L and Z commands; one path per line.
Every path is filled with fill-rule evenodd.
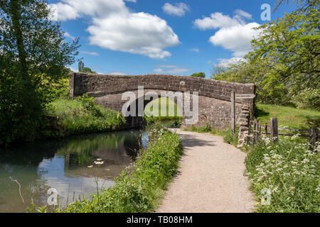
M 320 211 L 320 159 L 309 151 L 308 143 L 297 137 L 280 138 L 272 143 L 262 137 L 248 153 L 245 165 L 258 201 L 265 199 L 262 189 L 270 189 L 270 205 L 257 203 L 257 212 L 312 212 Z

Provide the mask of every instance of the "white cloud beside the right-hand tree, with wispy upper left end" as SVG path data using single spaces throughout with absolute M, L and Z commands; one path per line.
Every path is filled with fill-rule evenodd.
M 233 18 L 216 12 L 211 13 L 210 18 L 196 19 L 193 24 L 201 30 L 219 29 L 210 37 L 209 42 L 232 51 L 233 57 L 243 57 L 252 47 L 251 40 L 260 33 L 252 29 L 260 24 L 245 23 L 246 19 L 252 19 L 252 15 L 238 9 Z

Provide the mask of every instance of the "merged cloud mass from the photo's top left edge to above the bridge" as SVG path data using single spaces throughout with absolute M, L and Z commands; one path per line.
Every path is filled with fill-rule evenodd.
M 53 18 L 65 21 L 90 16 L 92 20 L 87 31 L 91 45 L 164 59 L 171 56 L 164 49 L 180 43 L 166 21 L 149 13 L 132 13 L 123 0 L 62 1 L 63 4 L 50 5 L 57 9 Z M 66 11 L 73 13 L 66 16 Z

